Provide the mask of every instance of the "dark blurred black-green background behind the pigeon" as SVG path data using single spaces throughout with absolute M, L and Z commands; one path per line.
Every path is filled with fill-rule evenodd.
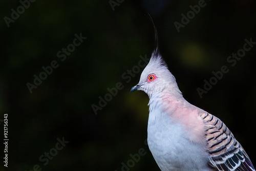
M 1 1 L 0 119 L 3 144 L 4 114 L 8 113 L 8 168 L 0 170 L 160 170 L 148 146 L 148 97 L 130 93 L 140 73 L 123 79 L 138 65 L 140 55 L 154 49 L 154 30 L 160 52 L 175 75 L 184 97 L 221 118 L 256 165 L 255 55 L 256 46 L 235 66 L 227 57 L 237 53 L 244 39 L 255 36 L 255 1 L 205 1 L 206 6 L 178 33 L 174 22 L 199 1 L 35 1 L 10 23 L 18 1 Z M 114 10 L 113 10 L 114 9 Z M 87 37 L 61 61 L 57 52 L 73 43 L 75 34 Z M 33 75 L 56 60 L 58 68 L 32 90 Z M 212 71 L 227 66 L 229 72 L 200 98 Z M 127 81 L 127 82 L 126 82 Z M 119 90 L 97 111 L 99 97 Z M 55 147 L 57 138 L 69 141 L 47 165 L 39 157 Z M 138 162 L 130 154 L 145 150 Z M 3 160 L 3 145 L 1 145 Z M 130 168 L 122 168 L 122 162 Z M 36 170 L 36 169 L 35 169 Z

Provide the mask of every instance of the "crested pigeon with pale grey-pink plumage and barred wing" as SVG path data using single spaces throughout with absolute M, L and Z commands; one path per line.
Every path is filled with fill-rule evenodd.
M 162 171 L 255 171 L 227 126 L 184 99 L 158 47 L 131 92 L 135 90 L 150 98 L 147 143 Z

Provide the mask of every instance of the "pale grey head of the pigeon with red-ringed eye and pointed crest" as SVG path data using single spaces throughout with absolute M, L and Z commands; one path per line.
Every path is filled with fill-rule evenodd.
M 131 92 L 142 90 L 151 97 L 156 93 L 163 92 L 165 89 L 169 89 L 169 91 L 177 91 L 172 90 L 174 87 L 178 88 L 175 77 L 169 72 L 166 63 L 162 59 L 157 48 L 152 53 L 150 61 L 141 73 L 139 83 L 131 89 Z

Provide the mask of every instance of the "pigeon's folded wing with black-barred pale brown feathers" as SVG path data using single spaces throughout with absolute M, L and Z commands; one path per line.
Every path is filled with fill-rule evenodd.
M 223 171 L 255 171 L 244 148 L 227 126 L 214 115 L 201 113 L 200 116 L 206 126 L 209 165 Z

